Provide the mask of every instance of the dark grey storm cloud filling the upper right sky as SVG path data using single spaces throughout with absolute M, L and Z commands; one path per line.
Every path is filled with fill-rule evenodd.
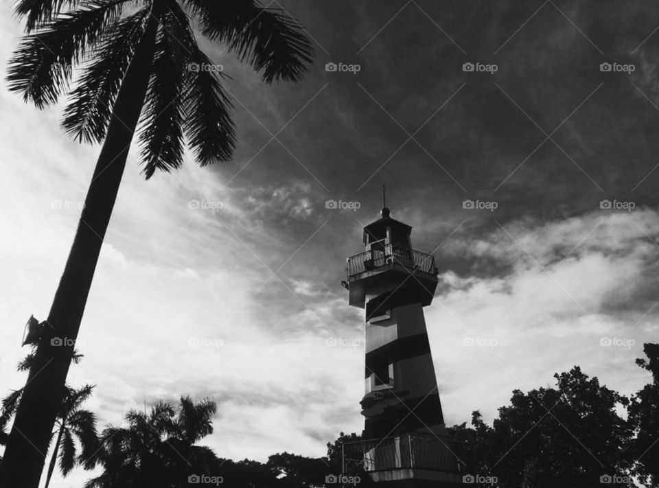
M 310 275 L 325 268 L 336 282 L 345 255 L 359 251 L 360 224 L 377 217 L 382 183 L 398 218 L 415 209 L 415 239 L 426 251 L 463 220 L 456 235 L 468 238 L 496 229 L 495 218 L 540 225 L 596 211 L 605 198 L 656 205 L 659 172 L 649 173 L 659 152 L 659 111 L 645 95 L 659 94 L 651 61 L 659 36 L 647 38 L 659 12 L 638 2 L 566 1 L 284 7 L 316 40 L 316 65 L 299 86 L 278 89 L 277 101 L 270 101 L 273 89 L 251 98 L 275 104 L 283 123 L 309 104 L 278 136 L 281 144 L 273 141 L 254 159 L 259 147 L 241 149 L 251 162 L 231 185 L 285 187 L 292 178 L 307 185 L 294 185 L 281 207 L 307 198 L 306 218 L 268 207 L 264 225 L 294 246 L 329 220 L 306 251 L 329 250 L 299 261 L 311 263 Z M 328 73 L 326 62 L 358 63 L 360 71 Z M 465 62 L 498 71 L 465 72 Z M 603 73 L 602 62 L 631 63 L 635 71 Z M 249 110 L 261 117 L 258 103 Z M 330 198 L 358 201 L 361 209 L 327 211 Z M 464 211 L 465 199 L 498 208 Z M 481 275 L 509 270 L 490 257 L 452 266 Z

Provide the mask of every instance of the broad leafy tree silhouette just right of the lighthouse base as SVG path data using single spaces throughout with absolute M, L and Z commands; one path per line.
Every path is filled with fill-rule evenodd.
M 601 477 L 627 476 L 623 453 L 631 428 L 616 408 L 628 399 L 579 367 L 554 377 L 556 388 L 513 391 L 492 427 L 474 412 L 472 428 L 452 428 L 470 442 L 472 474 L 496 476 L 501 488 L 595 488 Z

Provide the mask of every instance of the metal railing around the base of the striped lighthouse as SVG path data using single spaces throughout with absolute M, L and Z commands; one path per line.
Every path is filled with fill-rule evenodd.
M 426 435 L 406 434 L 343 444 L 343 469 L 361 467 L 366 472 L 391 469 L 431 469 L 465 472 L 470 456 L 466 443 Z

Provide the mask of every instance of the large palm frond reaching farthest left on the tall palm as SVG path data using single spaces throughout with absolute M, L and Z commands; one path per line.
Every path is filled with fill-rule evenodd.
M 23 93 L 23 99 L 37 108 L 56 103 L 69 86 L 73 67 L 121 14 L 125 1 L 82 1 L 80 10 L 24 36 L 10 59 L 9 89 Z

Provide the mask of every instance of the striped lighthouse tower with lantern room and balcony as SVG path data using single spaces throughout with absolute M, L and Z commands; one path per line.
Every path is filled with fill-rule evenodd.
M 464 463 L 444 425 L 424 307 L 437 288 L 435 257 L 415 251 L 412 227 L 391 218 L 364 227 L 365 251 L 347 258 L 348 303 L 365 310 L 365 417 L 351 452 L 382 487 L 449 487 Z

